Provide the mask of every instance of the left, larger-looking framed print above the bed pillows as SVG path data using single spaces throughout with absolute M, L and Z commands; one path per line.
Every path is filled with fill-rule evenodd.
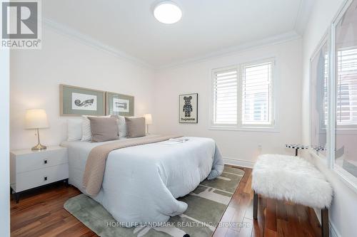
M 102 90 L 59 85 L 59 113 L 61 116 L 104 115 L 104 94 Z

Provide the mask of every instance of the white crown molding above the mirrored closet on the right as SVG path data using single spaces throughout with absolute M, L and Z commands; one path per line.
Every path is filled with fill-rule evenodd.
M 303 35 L 305 28 L 308 24 L 308 18 L 310 17 L 313 5 L 316 3 L 316 0 L 301 0 L 300 6 L 298 7 L 298 15 L 295 20 L 295 31 Z

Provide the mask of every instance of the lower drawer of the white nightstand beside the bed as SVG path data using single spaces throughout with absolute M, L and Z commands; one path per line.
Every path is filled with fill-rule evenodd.
M 54 181 L 68 179 L 68 164 L 60 164 L 44 169 L 16 174 L 16 192 L 32 189 L 37 186 L 51 184 Z

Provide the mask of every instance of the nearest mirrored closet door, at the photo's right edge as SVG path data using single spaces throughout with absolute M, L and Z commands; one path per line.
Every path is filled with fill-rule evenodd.
M 357 177 L 357 0 L 352 1 L 333 29 L 335 167 L 354 179 Z

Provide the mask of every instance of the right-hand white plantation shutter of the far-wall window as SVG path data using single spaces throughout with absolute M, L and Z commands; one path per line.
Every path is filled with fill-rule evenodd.
M 271 125 L 273 62 L 242 67 L 242 125 Z

